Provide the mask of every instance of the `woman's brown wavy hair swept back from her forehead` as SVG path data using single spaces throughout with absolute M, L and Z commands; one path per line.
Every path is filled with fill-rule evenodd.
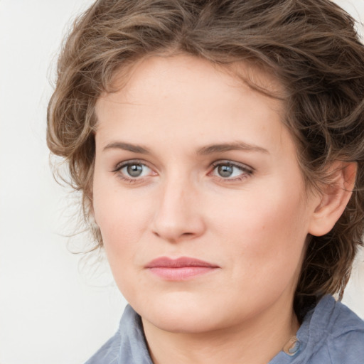
M 112 91 L 116 72 L 127 76 L 146 56 L 176 53 L 227 68 L 250 63 L 279 80 L 287 93 L 282 121 L 296 140 L 306 186 L 327 181 L 333 161 L 358 164 L 343 215 L 308 244 L 296 313 L 303 316 L 303 308 L 323 294 L 342 294 L 363 244 L 364 47 L 353 18 L 328 0 L 99 0 L 79 16 L 58 60 L 47 141 L 68 162 L 86 220 L 97 97 Z M 101 247 L 95 225 L 93 232 Z

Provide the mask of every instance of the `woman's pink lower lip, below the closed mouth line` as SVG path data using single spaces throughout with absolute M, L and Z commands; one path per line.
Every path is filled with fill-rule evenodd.
M 156 276 L 168 281 L 186 281 L 202 274 L 213 272 L 215 267 L 152 267 L 149 271 Z

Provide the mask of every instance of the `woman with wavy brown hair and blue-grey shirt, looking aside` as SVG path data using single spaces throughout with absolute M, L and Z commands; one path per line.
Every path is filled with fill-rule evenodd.
M 97 1 L 48 146 L 130 306 L 87 363 L 363 363 L 364 48 L 327 0 Z

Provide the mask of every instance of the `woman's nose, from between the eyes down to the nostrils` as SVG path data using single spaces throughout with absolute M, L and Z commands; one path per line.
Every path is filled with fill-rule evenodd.
M 203 206 L 193 183 L 170 178 L 161 186 L 156 213 L 152 222 L 154 235 L 168 242 L 191 240 L 203 235 Z

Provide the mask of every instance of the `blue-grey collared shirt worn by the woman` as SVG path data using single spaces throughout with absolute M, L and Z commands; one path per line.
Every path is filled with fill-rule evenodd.
M 364 321 L 332 296 L 306 314 L 296 337 L 290 354 L 282 350 L 267 364 L 364 364 Z M 153 364 L 131 306 L 117 333 L 85 364 Z

